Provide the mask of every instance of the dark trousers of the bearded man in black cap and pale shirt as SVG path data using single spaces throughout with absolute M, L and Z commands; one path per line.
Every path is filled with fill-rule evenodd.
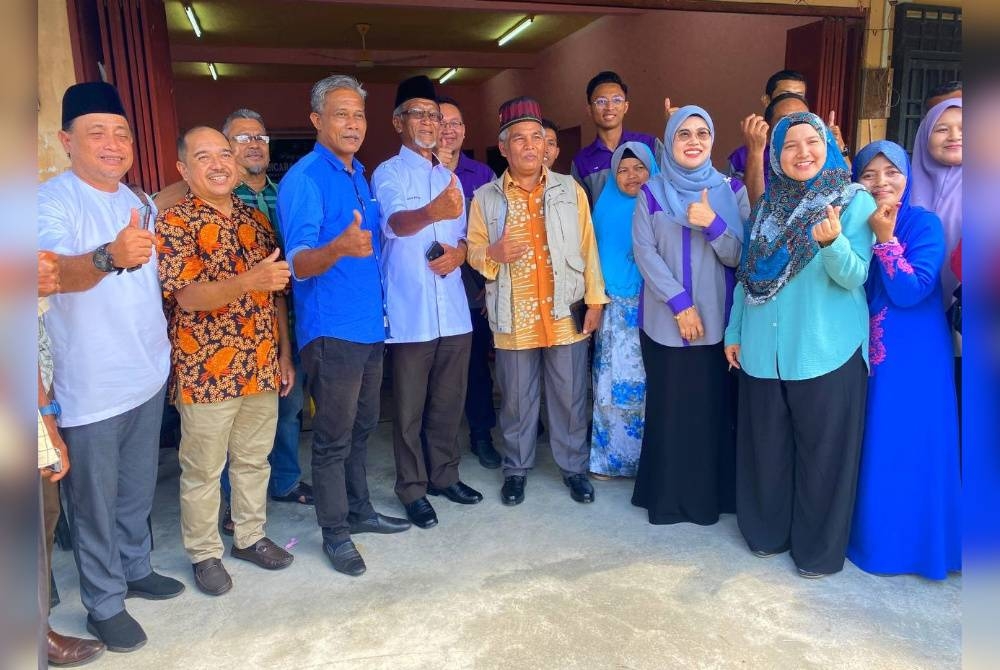
M 458 481 L 458 428 L 472 335 L 391 344 L 396 495 L 404 505 Z M 425 440 L 421 441 L 421 432 Z

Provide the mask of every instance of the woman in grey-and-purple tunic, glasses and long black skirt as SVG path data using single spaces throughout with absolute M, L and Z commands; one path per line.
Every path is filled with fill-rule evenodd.
M 646 370 L 632 504 L 653 524 L 709 525 L 735 511 L 734 379 L 722 336 L 750 204 L 743 185 L 712 166 L 714 139 L 704 109 L 671 115 L 663 171 L 643 187 L 632 221 Z

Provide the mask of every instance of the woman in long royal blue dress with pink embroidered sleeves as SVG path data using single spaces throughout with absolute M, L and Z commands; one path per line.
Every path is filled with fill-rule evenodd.
M 871 376 L 847 557 L 868 572 L 944 579 L 961 569 L 958 409 L 941 315 L 944 228 L 937 214 L 910 204 L 910 162 L 898 144 L 866 146 L 854 174 L 878 209 L 869 218 Z

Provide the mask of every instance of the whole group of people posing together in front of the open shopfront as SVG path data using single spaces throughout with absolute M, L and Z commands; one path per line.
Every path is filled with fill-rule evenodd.
M 180 416 L 183 543 L 209 595 L 233 586 L 221 534 L 234 559 L 293 562 L 266 535 L 269 494 L 313 504 L 351 576 L 366 571 L 354 535 L 435 526 L 428 497 L 479 503 L 460 477 L 458 407 L 479 462 L 502 468 L 501 502 L 520 504 L 543 387 L 577 502 L 595 500 L 591 478 L 634 477 L 650 523 L 735 512 L 754 554 L 790 551 L 803 577 L 845 556 L 958 570 L 957 279 L 942 269 L 960 253 L 960 90 L 930 108 L 912 169 L 875 142 L 853 172 L 805 94 L 798 73 L 769 80 L 735 177 L 713 166 L 707 110 L 668 102 L 662 140 L 626 130 L 628 87 L 601 72 L 586 89 L 597 137 L 572 174 L 550 169 L 558 128 L 517 97 L 499 108 L 497 176 L 462 151 L 460 104 L 418 76 L 397 89 L 399 152 L 369 178 L 366 92 L 332 75 L 312 89 L 316 144 L 280 184 L 244 108 L 186 131 L 182 181 L 150 198 L 121 181 L 133 148 L 115 89 L 71 87 L 71 169 L 39 189 L 39 467 L 50 538 L 69 473 L 99 641 L 49 631 L 49 660 L 139 648 L 125 598 L 184 590 L 149 561 L 165 401 Z M 367 484 L 386 357 L 405 518 L 377 512 Z M 312 485 L 296 455 L 303 389 Z

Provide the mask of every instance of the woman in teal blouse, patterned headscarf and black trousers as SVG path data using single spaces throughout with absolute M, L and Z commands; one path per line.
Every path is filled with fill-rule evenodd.
M 790 550 L 803 577 L 838 572 L 864 433 L 875 202 L 829 129 L 797 112 L 771 136 L 747 226 L 726 357 L 741 368 L 737 518 L 754 554 Z

